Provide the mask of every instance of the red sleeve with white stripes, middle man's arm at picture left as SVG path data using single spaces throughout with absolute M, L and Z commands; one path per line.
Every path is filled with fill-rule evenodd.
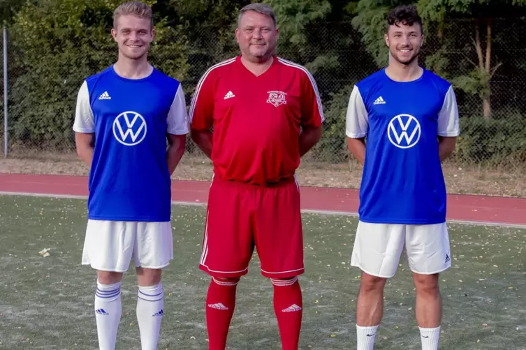
M 214 124 L 214 78 L 208 70 L 199 80 L 190 105 L 190 128 L 207 131 Z

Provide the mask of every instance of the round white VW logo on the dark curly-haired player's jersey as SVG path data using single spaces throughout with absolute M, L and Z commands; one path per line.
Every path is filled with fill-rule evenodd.
M 410 149 L 418 144 L 422 129 L 418 119 L 411 114 L 398 114 L 390 120 L 387 137 L 399 149 Z

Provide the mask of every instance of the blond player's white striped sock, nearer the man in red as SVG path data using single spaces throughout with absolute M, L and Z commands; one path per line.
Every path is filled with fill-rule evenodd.
M 143 350 L 156 350 L 163 319 L 164 292 L 161 283 L 140 287 L 137 298 L 137 323 Z

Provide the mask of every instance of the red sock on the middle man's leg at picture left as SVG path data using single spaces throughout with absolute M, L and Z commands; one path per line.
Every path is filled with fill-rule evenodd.
M 208 349 L 224 350 L 228 327 L 234 314 L 236 282 L 212 278 L 206 296 L 206 325 L 208 330 Z

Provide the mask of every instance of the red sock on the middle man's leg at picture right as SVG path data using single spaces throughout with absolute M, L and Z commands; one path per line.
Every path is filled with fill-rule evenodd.
M 274 285 L 274 311 L 276 312 L 283 350 L 298 350 L 300 341 L 302 295 L 298 277 L 272 280 Z

